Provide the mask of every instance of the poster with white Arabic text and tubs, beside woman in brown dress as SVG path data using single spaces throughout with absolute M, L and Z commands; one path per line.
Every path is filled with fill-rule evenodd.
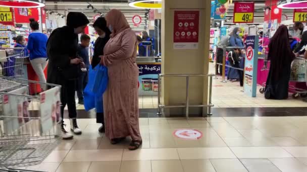
M 161 64 L 138 64 L 138 71 L 139 95 L 158 95 L 158 75 L 161 73 Z

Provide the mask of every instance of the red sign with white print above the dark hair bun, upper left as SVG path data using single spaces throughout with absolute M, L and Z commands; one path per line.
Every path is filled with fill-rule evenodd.
M 33 18 L 35 21 L 38 21 L 38 9 L 32 8 L 15 8 L 15 22 L 16 23 L 29 23 L 29 19 Z

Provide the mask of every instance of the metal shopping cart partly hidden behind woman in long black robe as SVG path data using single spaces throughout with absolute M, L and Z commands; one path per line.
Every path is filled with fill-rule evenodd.
M 291 75 L 289 80 L 289 92 L 293 93 L 292 97 L 297 99 L 299 97 L 307 97 L 307 89 L 298 88 L 297 83 L 303 83 L 305 87 L 307 85 L 307 61 L 304 58 L 296 57 L 291 64 Z M 260 89 L 260 93 L 265 92 L 266 83 L 263 83 L 263 88 Z

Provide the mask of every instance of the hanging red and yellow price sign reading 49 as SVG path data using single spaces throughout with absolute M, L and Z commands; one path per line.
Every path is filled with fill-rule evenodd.
M 235 2 L 233 23 L 253 23 L 254 2 Z

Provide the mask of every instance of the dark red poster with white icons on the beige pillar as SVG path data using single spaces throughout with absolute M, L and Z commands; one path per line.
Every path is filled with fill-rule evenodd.
M 199 11 L 175 11 L 174 49 L 198 49 Z

